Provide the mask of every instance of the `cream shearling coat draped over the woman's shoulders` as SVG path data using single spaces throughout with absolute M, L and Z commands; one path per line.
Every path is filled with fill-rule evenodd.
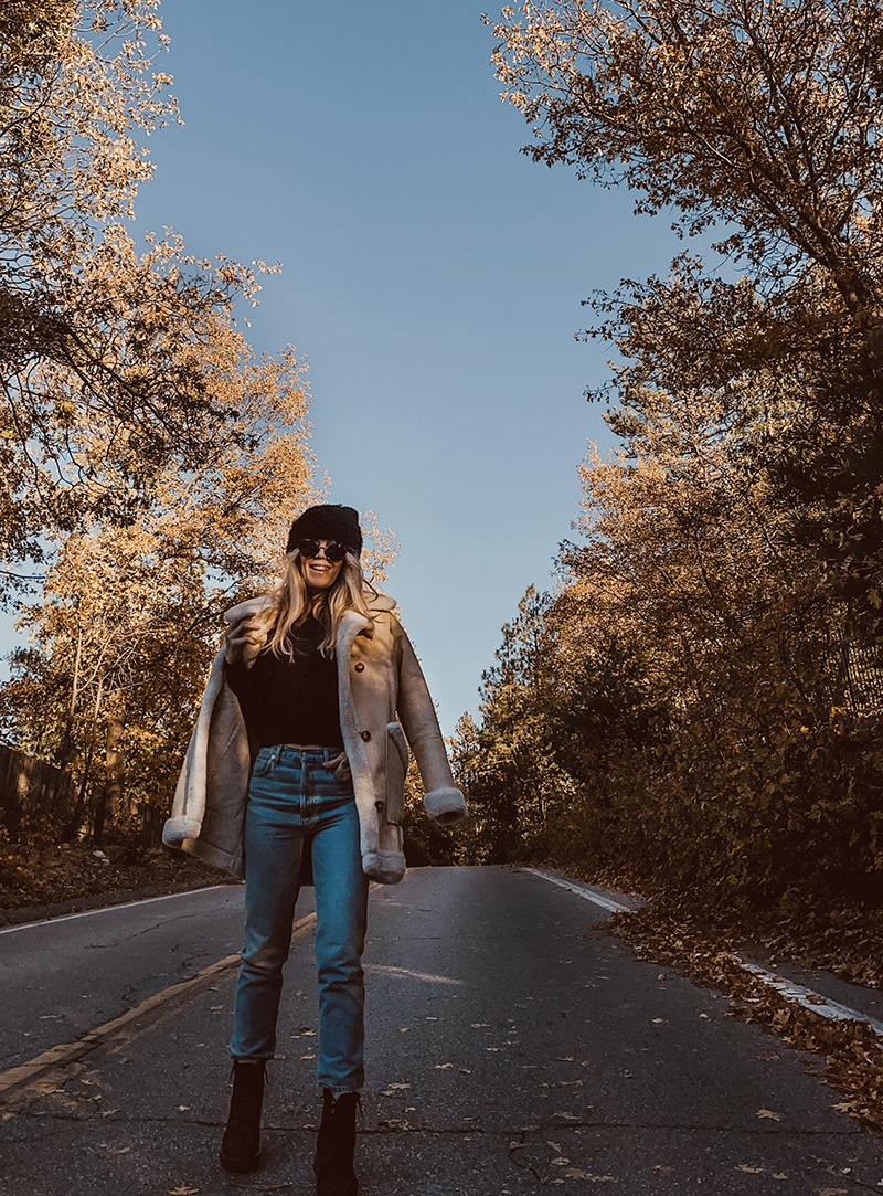
M 240 603 L 225 618 L 255 614 L 266 602 L 268 596 Z M 401 819 L 409 744 L 429 817 L 455 822 L 466 814 L 433 700 L 411 642 L 392 614 L 394 605 L 380 594 L 369 603 L 372 620 L 348 610 L 337 635 L 341 731 L 358 810 L 362 867 L 381 884 L 397 884 L 405 875 Z M 251 751 L 239 702 L 223 678 L 223 655 L 222 648 L 211 665 L 163 841 L 244 877 Z

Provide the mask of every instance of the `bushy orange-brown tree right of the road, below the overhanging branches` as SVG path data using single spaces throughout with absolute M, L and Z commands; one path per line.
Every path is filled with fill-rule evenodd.
M 848 612 L 740 435 L 707 398 L 661 404 L 583 468 L 583 541 L 550 612 L 578 786 L 550 842 L 716 909 L 867 899 L 875 695 L 857 701 Z

